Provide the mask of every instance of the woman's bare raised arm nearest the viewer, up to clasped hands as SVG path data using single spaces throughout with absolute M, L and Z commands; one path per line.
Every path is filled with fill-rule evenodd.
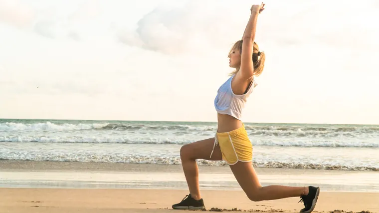
M 251 6 L 251 14 L 247 22 L 245 32 L 242 36 L 242 52 L 241 52 L 241 66 L 239 75 L 243 79 L 249 79 L 254 75 L 253 65 L 253 44 L 255 38 L 255 30 L 258 19 L 258 14 L 264 10 L 264 3 L 254 4 Z

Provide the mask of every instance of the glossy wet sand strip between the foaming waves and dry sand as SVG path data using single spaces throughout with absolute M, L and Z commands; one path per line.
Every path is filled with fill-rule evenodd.
M 185 190 L 182 165 L 0 160 L 0 188 Z M 262 186 L 319 186 L 324 192 L 379 193 L 378 172 L 255 169 Z M 201 190 L 241 191 L 227 166 L 199 166 Z

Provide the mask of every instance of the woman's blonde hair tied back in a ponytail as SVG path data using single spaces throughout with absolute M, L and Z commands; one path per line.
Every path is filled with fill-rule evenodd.
M 239 40 L 234 43 L 233 47 L 229 51 L 229 55 L 233 50 L 238 50 L 240 54 L 242 54 L 242 40 Z M 259 76 L 263 72 L 264 61 L 266 60 L 266 56 L 264 52 L 259 51 L 258 44 L 255 43 L 253 45 L 253 65 L 254 65 L 254 75 Z M 230 73 L 230 75 L 234 75 L 239 71 L 239 68 Z

